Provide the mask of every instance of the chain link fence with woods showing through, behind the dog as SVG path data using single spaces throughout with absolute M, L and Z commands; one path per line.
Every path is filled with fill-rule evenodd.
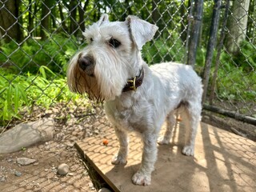
M 206 110 L 255 124 L 255 9 L 255 0 L 0 0 L 0 126 L 78 98 L 67 89 L 66 63 L 102 13 L 155 23 L 146 62 L 193 65 Z

